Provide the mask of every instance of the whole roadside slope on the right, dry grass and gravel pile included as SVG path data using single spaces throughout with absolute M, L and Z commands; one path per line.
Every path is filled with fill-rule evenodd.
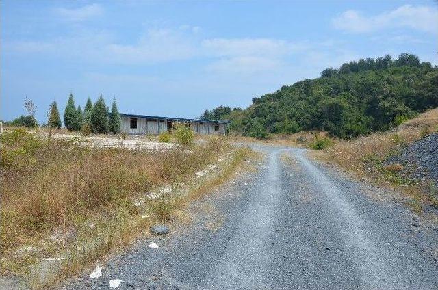
M 360 179 L 393 187 L 415 211 L 438 209 L 438 109 L 426 111 L 389 132 L 337 140 L 322 153 Z

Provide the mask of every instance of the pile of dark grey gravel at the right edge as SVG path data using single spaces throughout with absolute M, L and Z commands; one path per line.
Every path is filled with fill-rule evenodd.
M 402 174 L 411 179 L 430 179 L 438 185 L 438 133 L 432 133 L 413 142 L 387 164 L 399 163 Z

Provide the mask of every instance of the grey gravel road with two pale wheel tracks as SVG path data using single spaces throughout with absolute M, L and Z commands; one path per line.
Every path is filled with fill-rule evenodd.
M 190 224 L 63 288 L 438 289 L 438 228 L 305 150 L 253 147 L 257 172 L 194 202 Z

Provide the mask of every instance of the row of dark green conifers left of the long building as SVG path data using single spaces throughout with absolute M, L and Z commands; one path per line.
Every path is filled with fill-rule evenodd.
M 75 107 L 73 94 L 68 96 L 66 109 L 64 111 L 64 125 L 70 131 L 83 131 L 92 133 L 108 133 L 114 135 L 120 132 L 120 114 L 118 114 L 116 98 L 113 98 L 111 114 L 105 105 L 103 96 L 99 96 L 96 103 L 92 104 L 90 98 L 82 111 L 81 106 Z M 50 106 L 47 125 L 60 129 L 62 122 L 60 112 L 57 109 L 56 101 Z

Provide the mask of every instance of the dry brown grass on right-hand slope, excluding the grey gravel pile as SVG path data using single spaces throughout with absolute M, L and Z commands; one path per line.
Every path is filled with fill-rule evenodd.
M 404 192 L 421 211 L 421 205 L 438 205 L 430 194 L 430 184 L 403 179 L 398 172 L 400 164 L 385 166 L 387 157 L 428 135 L 438 131 L 438 109 L 427 111 L 401 124 L 397 129 L 385 133 L 373 133 L 355 140 L 337 140 L 335 144 L 316 157 L 336 163 L 359 178 L 367 178 L 379 185 L 390 185 Z

